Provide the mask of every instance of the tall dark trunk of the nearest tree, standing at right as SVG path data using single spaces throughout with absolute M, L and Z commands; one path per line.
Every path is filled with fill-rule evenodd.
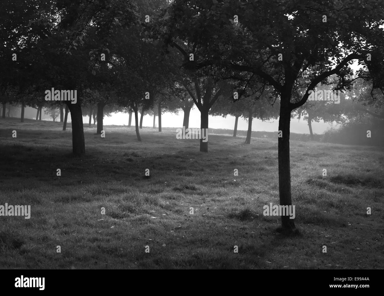
M 280 101 L 279 131 L 282 132 L 278 137 L 278 162 L 279 162 L 279 195 L 280 205 L 292 205 L 291 197 L 291 165 L 290 165 L 290 123 L 291 110 L 289 106 L 290 96 Z M 290 219 L 288 215 L 281 216 L 282 229 L 291 232 L 295 228 L 295 219 Z

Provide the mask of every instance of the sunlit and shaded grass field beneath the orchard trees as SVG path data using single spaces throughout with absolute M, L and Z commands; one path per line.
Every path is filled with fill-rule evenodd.
M 300 234 L 283 236 L 263 216 L 279 203 L 277 140 L 211 135 L 202 153 L 175 132 L 102 139 L 87 124 L 77 159 L 70 127 L 0 119 L 0 205 L 31 205 L 30 219 L 0 217 L 0 268 L 384 268 L 379 147 L 291 141 Z

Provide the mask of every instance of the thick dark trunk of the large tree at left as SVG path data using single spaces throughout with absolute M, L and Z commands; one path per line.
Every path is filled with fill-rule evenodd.
M 68 106 L 69 105 L 69 106 Z M 83 129 L 83 114 L 81 112 L 80 102 L 76 104 L 67 103 L 71 112 L 72 122 L 72 152 L 75 156 L 85 154 L 85 141 Z

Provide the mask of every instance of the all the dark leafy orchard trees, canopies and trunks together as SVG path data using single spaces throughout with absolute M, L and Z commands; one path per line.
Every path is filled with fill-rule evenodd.
M 291 205 L 291 117 L 310 123 L 330 108 L 326 120 L 346 118 L 334 102 L 307 103 L 311 91 L 332 85 L 359 103 L 351 114 L 382 116 L 381 0 L 31 0 L 9 1 L 0 13 L 3 102 L 43 106 L 46 89 L 77 90 L 76 104 L 66 102 L 75 155 L 85 153 L 87 104 L 97 106 L 98 132 L 106 106 L 134 113 L 139 141 L 139 110 L 157 104 L 160 127 L 170 101 L 182 105 L 185 123 L 193 102 L 202 129 L 210 111 L 249 125 L 278 117 L 280 204 Z

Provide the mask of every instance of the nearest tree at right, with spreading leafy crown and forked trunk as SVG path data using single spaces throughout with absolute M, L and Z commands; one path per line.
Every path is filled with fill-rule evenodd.
M 281 98 L 280 205 L 291 206 L 291 112 L 333 74 L 340 77 L 340 89 L 351 83 L 351 62 L 366 63 L 372 48 L 383 44 L 383 6 L 377 0 L 192 0 L 188 5 L 175 0 L 150 30 L 166 48 L 190 45 L 198 58 L 190 61 L 185 52 L 185 68 L 247 72 L 273 86 Z M 305 78 L 301 97 L 293 93 L 299 78 Z M 281 223 L 283 231 L 295 229 L 288 216 L 282 216 Z

